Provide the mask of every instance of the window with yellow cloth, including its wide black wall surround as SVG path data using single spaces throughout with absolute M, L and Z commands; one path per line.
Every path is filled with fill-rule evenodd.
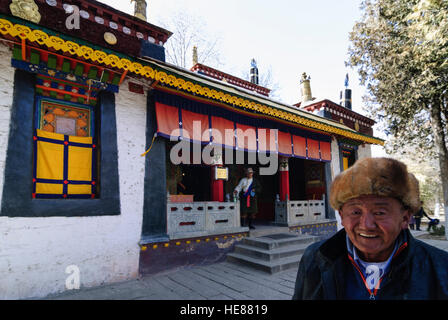
M 99 92 L 97 106 L 90 107 L 92 101 L 85 105 L 81 101 L 66 100 L 65 97 L 62 97 L 62 99 L 60 96 L 42 97 L 39 92 L 36 95 L 36 88 L 36 76 L 34 74 L 16 70 L 0 215 L 8 217 L 119 215 L 120 194 L 114 93 L 105 90 Z M 37 106 L 39 99 L 41 99 L 39 103 L 40 106 L 43 106 L 43 109 L 36 108 L 33 113 L 31 110 L 33 106 Z M 45 113 L 48 108 L 53 109 L 51 112 Z M 54 114 L 60 112 L 57 111 L 58 108 L 65 108 L 65 113 Z M 42 110 L 44 113 L 42 113 Z M 87 124 L 85 125 L 81 121 L 73 122 L 73 119 L 86 120 L 87 118 L 83 117 L 82 114 L 88 110 L 92 111 L 90 116 L 93 117 L 89 122 L 90 128 L 87 128 Z M 78 112 L 78 118 L 70 118 L 67 111 Z M 38 112 L 39 116 L 37 115 Z M 48 116 L 46 121 L 42 119 L 46 114 L 51 113 L 54 114 L 54 119 L 51 116 Z M 39 118 L 40 116 L 42 117 Z M 56 116 L 60 116 L 63 121 L 59 125 Z M 48 130 L 43 129 L 45 125 L 51 123 L 54 124 L 54 126 L 52 125 L 54 127 L 53 132 L 51 132 L 50 127 L 47 127 Z M 81 131 L 84 131 L 83 133 L 79 131 L 80 128 Z M 66 134 L 73 133 L 73 130 L 78 131 L 80 135 Z M 89 131 L 90 134 L 83 136 L 84 133 Z M 35 137 L 37 140 L 35 140 Z M 90 140 L 86 143 L 84 139 Z M 48 181 L 41 180 L 41 185 L 35 191 L 47 196 L 40 198 L 32 197 L 33 188 L 35 185 L 37 187 L 38 183 L 33 179 L 36 179 L 36 177 L 45 178 L 37 176 L 38 166 L 34 165 L 34 162 L 38 159 L 38 157 L 34 157 L 38 153 L 34 150 L 36 141 L 52 145 L 52 148 L 42 149 L 43 152 L 48 151 L 52 154 L 47 159 L 59 157 L 57 162 L 50 160 L 53 163 L 49 163 L 47 168 L 45 168 L 46 164 L 42 167 L 43 172 L 50 171 L 49 167 L 51 167 L 51 176 L 46 178 L 54 178 L 58 181 L 51 181 L 50 185 L 45 185 Z M 98 146 L 95 145 L 95 141 L 98 142 Z M 91 148 L 85 148 L 85 145 L 90 145 Z M 64 155 L 64 151 L 61 150 L 67 150 L 68 154 Z M 93 161 L 94 155 L 97 157 L 97 161 Z M 68 161 L 62 159 L 64 156 L 67 156 Z M 92 160 L 88 160 L 90 158 Z M 80 161 L 79 159 L 84 160 Z M 89 168 L 88 161 L 92 163 L 90 170 L 85 169 Z M 67 179 L 64 179 L 64 165 L 67 166 Z M 70 170 L 72 167 L 76 168 Z M 92 176 L 89 176 L 89 173 Z M 96 180 L 94 184 L 96 197 L 91 199 L 92 182 L 95 181 L 94 175 L 101 177 L 101 179 Z M 65 180 L 67 180 L 67 184 L 64 183 Z M 90 182 L 90 185 L 86 182 Z M 98 192 L 100 185 L 101 192 Z M 66 192 L 64 192 L 65 187 L 67 188 Z M 71 196 L 77 199 L 63 200 L 64 194 L 67 194 L 67 197 Z M 54 195 L 59 198 L 54 197 Z

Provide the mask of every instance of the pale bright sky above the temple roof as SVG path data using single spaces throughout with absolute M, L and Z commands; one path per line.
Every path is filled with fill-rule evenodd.
M 133 14 L 130 0 L 100 0 Z M 366 114 L 356 70 L 345 66 L 349 32 L 361 18 L 361 0 L 147 0 L 148 22 L 161 25 L 178 12 L 204 22 L 204 32 L 220 39 L 221 71 L 241 76 L 254 58 L 260 75 L 272 70 L 278 96 L 287 104 L 301 100 L 300 77 L 311 77 L 313 97 L 339 103 L 346 73 L 353 110 Z M 200 50 L 200 48 L 199 48 Z M 211 67 L 216 67 L 211 65 Z M 375 130 L 375 136 L 385 138 Z M 373 155 L 383 155 L 373 148 Z

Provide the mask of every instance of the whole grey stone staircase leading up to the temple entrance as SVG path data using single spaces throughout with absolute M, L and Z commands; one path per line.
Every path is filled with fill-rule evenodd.
M 251 266 L 268 273 L 297 268 L 305 249 L 320 240 L 311 235 L 275 233 L 245 238 L 227 254 L 227 261 Z

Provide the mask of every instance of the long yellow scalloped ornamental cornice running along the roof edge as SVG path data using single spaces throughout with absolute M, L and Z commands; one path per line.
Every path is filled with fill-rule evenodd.
M 116 54 L 96 50 L 88 45 L 79 45 L 74 42 L 76 40 L 70 41 L 64 40 L 58 36 L 50 36 L 42 30 L 33 30 L 28 26 L 14 24 L 6 19 L 0 19 L 0 33 L 4 36 L 19 38 L 22 41 L 28 40 L 30 42 L 37 43 L 40 46 L 45 45 L 47 48 L 57 51 L 61 50 L 64 53 L 90 60 L 94 63 L 105 65 L 110 68 L 131 72 L 144 78 L 155 80 L 161 84 L 190 92 L 214 101 L 225 102 L 236 107 L 248 109 L 274 118 L 287 120 L 289 122 L 322 132 L 340 135 L 365 143 L 384 145 L 384 141 L 381 139 L 356 133 L 350 129 L 342 129 L 341 127 L 331 124 L 330 122 L 326 122 L 325 119 L 322 119 L 322 121 L 312 120 L 292 111 L 284 111 L 256 101 L 251 101 L 248 98 L 242 98 L 235 94 L 229 94 L 219 89 L 216 90 L 215 88 L 208 87 L 200 82 L 195 83 L 195 81 L 191 79 L 184 79 L 174 72 L 164 70 L 159 65 L 150 64 L 147 61 L 142 64 L 128 58 L 120 58 Z

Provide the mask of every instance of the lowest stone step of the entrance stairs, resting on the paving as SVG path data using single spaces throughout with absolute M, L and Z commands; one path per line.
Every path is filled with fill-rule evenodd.
M 302 255 L 298 255 L 276 259 L 274 261 L 265 261 L 235 252 L 227 255 L 227 261 L 229 262 L 243 264 L 271 274 L 297 268 L 301 258 Z

